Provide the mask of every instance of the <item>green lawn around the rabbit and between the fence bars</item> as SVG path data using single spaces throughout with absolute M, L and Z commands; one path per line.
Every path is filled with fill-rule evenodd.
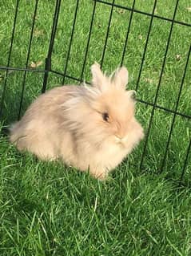
M 0 65 L 6 66 L 10 35 L 14 22 L 16 1 L 0 0 Z M 109 0 L 108 2 L 112 2 Z M 132 6 L 133 1 L 116 0 L 117 4 Z M 34 1 L 20 1 L 14 36 L 11 67 L 25 67 L 30 39 Z M 156 14 L 173 17 L 175 0 L 157 1 Z M 58 31 L 52 55 L 53 69 L 63 72 L 66 65 L 70 35 L 74 22 L 76 1 L 63 0 Z M 66 74 L 90 81 L 90 65 L 101 61 L 110 7 L 97 3 L 86 68 L 82 63 L 90 30 L 94 2 L 80 0 Z M 179 1 L 176 19 L 191 23 L 189 1 Z M 137 10 L 152 13 L 153 1 L 136 1 Z M 47 55 L 54 1 L 38 2 L 34 39 L 30 51 L 31 62 L 42 61 Z M 103 70 L 113 71 L 121 62 L 130 13 L 113 8 L 113 18 L 105 51 Z M 124 65 L 129 69 L 129 88 L 135 88 L 140 69 L 150 18 L 133 14 Z M 137 90 L 139 99 L 153 103 L 170 22 L 153 19 L 145 63 Z M 175 24 L 169 44 L 165 72 L 157 104 L 174 110 L 185 60 L 189 51 L 189 26 Z M 180 55 L 180 58 L 177 58 Z M 178 112 L 190 113 L 190 58 L 181 93 Z M 22 71 L 10 72 L 2 124 L 17 119 L 20 103 Z M 0 71 L 0 100 L 5 72 Z M 43 75 L 28 72 L 22 113 L 40 93 Z M 66 83 L 74 83 L 66 79 Z M 48 88 L 62 83 L 58 75 L 50 74 Z M 137 119 L 148 128 L 152 107 L 137 104 Z M 190 255 L 191 199 L 190 154 L 185 169 L 186 187 L 177 189 L 177 181 L 185 161 L 189 144 L 190 120 L 177 116 L 173 128 L 164 172 L 157 174 L 165 152 L 173 115 L 156 109 L 149 133 L 149 142 L 141 173 L 141 152 L 144 141 L 112 174 L 109 181 L 99 182 L 88 173 L 66 168 L 62 163 L 37 161 L 29 153 L 21 154 L 0 136 L 0 255 Z

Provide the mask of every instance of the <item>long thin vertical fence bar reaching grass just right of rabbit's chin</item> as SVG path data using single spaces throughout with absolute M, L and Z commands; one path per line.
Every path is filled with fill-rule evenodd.
M 179 0 L 177 0 L 176 6 L 174 8 L 173 21 L 175 19 L 176 13 L 177 13 L 178 2 L 179 2 Z M 155 106 L 157 104 L 157 96 L 158 96 L 158 93 L 159 93 L 159 89 L 161 87 L 161 79 L 162 79 L 162 75 L 163 75 L 163 72 L 164 72 L 164 69 L 165 69 L 166 57 L 167 57 L 167 53 L 169 51 L 169 43 L 170 43 L 171 35 L 172 35 L 172 32 L 173 32 L 173 24 L 174 24 L 173 21 L 171 22 L 171 26 L 170 26 L 170 30 L 169 30 L 169 38 L 167 40 L 166 49 L 165 49 L 165 56 L 164 56 L 162 67 L 161 67 L 161 75 L 160 75 L 160 78 L 159 78 L 159 81 L 158 81 L 158 84 L 157 84 L 157 91 L 156 91 L 156 95 L 155 95 L 155 99 L 154 99 L 154 103 L 153 103 L 153 108 L 152 108 L 152 112 L 151 112 L 151 116 L 150 116 L 150 120 L 149 120 L 149 127 L 148 127 L 148 130 L 147 130 L 146 136 L 145 136 L 145 144 L 144 144 L 143 152 L 142 152 L 142 155 L 141 155 L 140 169 L 142 169 L 143 159 L 144 159 L 144 156 L 145 156 L 145 151 L 146 151 L 146 147 L 147 147 L 148 139 L 149 139 L 149 132 L 150 132 L 151 124 L 153 122 L 154 110 L 155 110 Z

